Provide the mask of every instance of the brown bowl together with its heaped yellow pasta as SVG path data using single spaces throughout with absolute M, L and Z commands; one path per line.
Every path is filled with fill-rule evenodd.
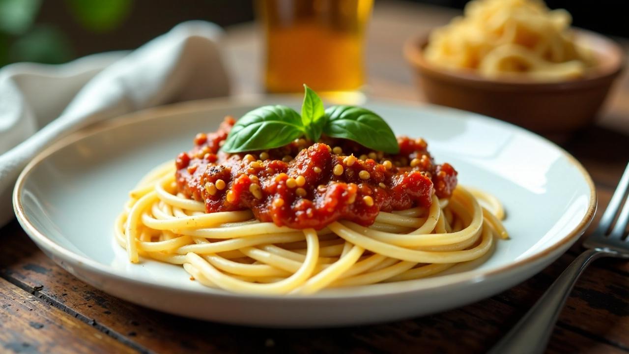
M 562 134 L 592 122 L 623 66 L 616 43 L 570 23 L 542 1 L 474 0 L 404 53 L 431 103 Z

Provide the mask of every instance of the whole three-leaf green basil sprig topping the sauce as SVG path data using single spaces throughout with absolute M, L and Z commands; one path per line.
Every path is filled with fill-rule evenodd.
M 300 137 L 318 141 L 321 134 L 349 139 L 369 149 L 399 152 L 398 140 L 379 115 L 356 106 L 323 108 L 321 98 L 304 84 L 301 116 L 282 105 L 262 106 L 243 115 L 231 128 L 221 149 L 245 152 L 274 149 Z

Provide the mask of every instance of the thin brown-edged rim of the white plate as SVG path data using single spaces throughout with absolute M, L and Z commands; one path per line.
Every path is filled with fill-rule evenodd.
M 70 251 L 70 249 L 64 248 L 60 244 L 55 243 L 52 239 L 45 236 L 42 232 L 40 232 L 33 223 L 28 219 L 28 216 L 25 213 L 24 207 L 21 204 L 21 191 L 23 190 L 23 186 L 25 185 L 28 176 L 35 170 L 35 168 L 45 161 L 47 157 L 51 156 L 55 152 L 63 149 L 64 147 L 70 146 L 79 140 L 86 139 L 87 137 L 91 137 L 92 135 L 101 134 L 102 132 L 106 132 L 108 130 L 112 130 L 114 128 L 122 127 L 124 125 L 130 125 L 133 123 L 140 123 L 146 120 L 152 120 L 159 117 L 164 117 L 173 114 L 186 114 L 192 113 L 196 111 L 201 111 L 204 109 L 211 108 L 221 108 L 221 107 L 229 107 L 229 106 L 238 106 L 238 105 L 259 105 L 270 103 L 271 101 L 294 101 L 298 103 L 298 98 L 294 95 L 286 95 L 286 94 L 247 94 L 242 96 L 227 96 L 221 98 L 209 98 L 203 100 L 193 100 L 193 101 L 184 101 L 179 103 L 171 103 L 168 105 L 155 106 L 151 108 L 145 108 L 139 111 L 133 111 L 130 113 L 126 113 L 124 115 L 120 115 L 109 120 L 105 120 L 103 122 L 94 123 L 89 125 L 88 127 L 80 128 L 79 130 L 62 137 L 55 141 L 51 146 L 43 149 L 43 151 L 39 152 L 33 159 L 26 165 L 26 167 L 21 171 L 18 176 L 18 180 L 13 189 L 13 209 L 16 214 L 16 218 L 19 221 L 19 224 L 26 231 L 26 234 L 35 242 L 38 248 L 42 248 L 40 245 L 45 245 L 47 248 L 52 249 L 58 254 L 62 254 L 65 258 L 72 260 L 76 263 L 82 264 L 84 267 L 88 267 L 89 271 L 92 273 L 98 273 L 101 277 L 114 277 L 118 278 L 123 282 L 131 282 L 131 283 L 141 283 L 142 285 L 148 287 L 157 287 L 164 288 L 167 290 L 176 290 L 178 292 L 189 292 L 194 294 L 205 294 L 208 296 L 220 296 L 220 297 L 231 297 L 231 298 L 242 298 L 242 299 L 264 299 L 264 300 L 325 300 L 325 299 L 364 299 L 365 297 L 380 297 L 394 294 L 403 294 L 407 292 L 417 292 L 417 291 L 427 291 L 440 287 L 450 287 L 456 285 L 463 285 L 464 283 L 474 282 L 480 278 L 486 277 L 494 277 L 499 276 L 501 273 L 509 272 L 516 270 L 517 268 L 532 265 L 536 261 L 542 261 L 548 256 L 551 256 L 556 251 L 559 251 L 567 244 L 572 244 L 576 241 L 583 232 L 586 231 L 589 224 L 591 224 L 594 219 L 594 214 L 596 213 L 596 208 L 598 204 L 598 195 L 596 192 L 596 187 L 594 186 L 594 182 L 587 173 L 587 170 L 582 166 L 579 161 L 572 156 L 569 152 L 565 151 L 564 148 L 555 144 L 554 142 L 548 140 L 541 135 L 535 134 L 525 128 L 518 127 L 512 123 L 504 122 L 502 120 L 498 120 L 496 118 L 487 117 L 485 115 L 481 115 L 478 113 L 458 110 L 456 108 L 450 108 L 447 106 L 439 106 L 439 105 L 431 105 L 427 103 L 417 102 L 417 101 L 406 101 L 406 100 L 394 100 L 394 99 L 386 99 L 386 98 L 369 98 L 365 103 L 380 103 L 385 105 L 392 106 L 403 106 L 404 108 L 433 108 L 442 111 L 451 111 L 457 112 L 462 115 L 466 115 L 468 117 L 474 117 L 477 119 L 489 121 L 493 124 L 504 125 L 510 129 L 515 129 L 521 134 L 528 135 L 529 137 L 533 137 L 538 140 L 542 140 L 546 144 L 550 144 L 550 146 L 562 152 L 563 156 L 567 159 L 569 163 L 577 168 L 577 171 L 581 173 L 582 178 L 586 181 L 590 198 L 588 203 L 587 212 L 584 217 L 581 219 L 579 224 L 577 224 L 574 229 L 566 234 L 566 236 L 562 237 L 557 243 L 552 246 L 543 249 L 537 253 L 534 253 L 522 260 L 513 261 L 508 265 L 500 266 L 493 270 L 468 270 L 463 271 L 461 273 L 454 273 L 449 275 L 443 275 L 441 277 L 430 278 L 432 280 L 431 283 L 426 283 L 421 286 L 415 285 L 414 287 L 408 287 L 404 289 L 397 290 L 389 290 L 385 289 L 384 291 L 379 292 L 354 292 L 353 294 L 312 294 L 312 295 L 265 295 L 265 294 L 238 294 L 227 292 L 222 289 L 191 289 L 191 288 L 175 288 L 172 285 L 162 284 L 150 282 L 147 280 L 138 280 L 135 278 L 131 278 L 123 275 L 118 271 L 111 270 L 109 268 L 103 269 L 101 263 L 92 260 L 91 258 L 87 258 L 86 256 L 82 256 L 81 254 L 74 253 Z M 42 249 L 43 251 L 48 251 L 47 249 Z M 46 252 L 45 252 L 46 253 Z M 48 254 L 47 254 L 48 256 Z M 48 256 L 50 258 L 50 256 Z M 213 290 L 213 291 L 208 291 Z

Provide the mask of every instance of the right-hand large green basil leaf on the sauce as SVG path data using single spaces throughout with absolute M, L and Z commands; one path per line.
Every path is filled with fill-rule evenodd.
M 376 113 L 354 106 L 331 106 L 325 113 L 327 122 L 323 132 L 326 135 L 353 140 L 376 151 L 399 152 L 393 131 Z

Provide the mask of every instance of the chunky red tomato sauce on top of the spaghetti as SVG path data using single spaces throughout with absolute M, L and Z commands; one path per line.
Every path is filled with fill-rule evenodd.
M 220 150 L 235 120 L 200 133 L 177 156 L 178 190 L 206 212 L 250 209 L 261 222 L 322 229 L 335 220 L 363 226 L 380 211 L 429 207 L 457 186 L 450 164 L 435 164 L 423 139 L 398 137 L 398 154 L 372 151 L 346 139 L 298 139 L 277 149 L 228 154 Z

